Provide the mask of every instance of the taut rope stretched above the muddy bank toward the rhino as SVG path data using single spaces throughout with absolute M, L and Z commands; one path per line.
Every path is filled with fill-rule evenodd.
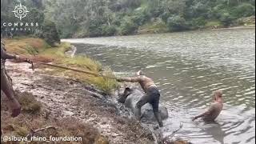
M 76 71 L 76 72 L 79 72 L 79 73 L 83 73 L 83 74 L 90 74 L 90 75 L 94 75 L 94 76 L 96 76 L 96 77 L 110 78 L 110 79 L 117 79 L 117 78 L 113 78 L 113 77 L 105 76 L 105 75 L 102 75 L 102 74 L 95 74 L 95 73 L 91 73 L 91 72 L 89 72 L 89 71 L 72 69 L 72 68 L 65 67 L 65 66 L 58 66 L 58 65 L 54 65 L 54 64 L 50 64 L 50 63 L 45 63 L 45 62 L 30 61 L 29 59 L 26 59 L 26 61 L 25 61 L 25 62 L 28 62 L 28 63 L 32 64 L 32 66 L 33 66 L 33 63 L 38 63 L 38 64 L 41 64 L 41 65 L 58 67 L 58 68 L 65 69 L 65 70 L 73 70 L 73 71 Z

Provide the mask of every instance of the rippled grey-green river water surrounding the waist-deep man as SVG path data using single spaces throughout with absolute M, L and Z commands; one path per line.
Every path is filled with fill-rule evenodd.
M 206 30 L 109 38 L 66 39 L 119 73 L 143 70 L 161 90 L 170 118 L 164 135 L 182 122 L 176 137 L 194 143 L 255 142 L 255 31 Z M 222 90 L 224 110 L 216 123 L 191 118 Z

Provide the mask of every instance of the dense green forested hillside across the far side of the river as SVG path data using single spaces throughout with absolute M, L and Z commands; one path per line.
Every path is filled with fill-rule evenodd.
M 2 12 L 6 7 L 2 7 L 2 2 L 9 1 L 1 0 L 1 16 L 5 18 L 6 15 Z M 255 0 L 23 0 L 22 2 L 34 6 L 34 14 L 43 16 L 35 15 L 33 18 L 54 22 L 61 38 L 239 26 L 254 22 L 255 15 Z

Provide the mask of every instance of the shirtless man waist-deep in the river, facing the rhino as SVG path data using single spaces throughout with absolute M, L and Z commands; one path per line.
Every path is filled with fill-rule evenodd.
M 197 118 L 202 118 L 206 122 L 214 122 L 214 119 L 217 118 L 218 114 L 221 113 L 222 108 L 222 91 L 217 90 L 214 92 L 214 102 L 210 105 L 209 109 L 206 110 L 206 112 L 192 118 L 192 121 L 194 121 Z

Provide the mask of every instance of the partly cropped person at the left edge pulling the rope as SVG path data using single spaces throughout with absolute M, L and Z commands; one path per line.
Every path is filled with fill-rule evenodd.
M 6 53 L 4 49 L 4 43 L 1 41 L 1 91 L 6 94 L 6 97 L 9 100 L 9 106 L 12 109 L 12 117 L 17 117 L 21 112 L 21 105 L 18 100 L 14 98 L 14 89 L 11 85 L 10 79 L 6 75 L 5 70 L 5 60 L 6 59 L 18 59 L 22 60 L 18 55 L 12 55 Z

